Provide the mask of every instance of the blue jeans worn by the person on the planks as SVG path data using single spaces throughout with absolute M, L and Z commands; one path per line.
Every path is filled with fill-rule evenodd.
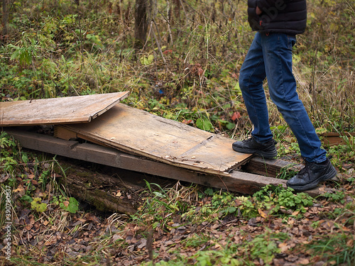
M 239 86 L 254 126 L 251 135 L 256 140 L 267 142 L 273 138 L 263 89 L 267 78 L 270 97 L 295 134 L 302 157 L 307 162 L 323 162 L 327 153 L 296 92 L 292 72 L 295 43 L 295 36 L 285 33 L 256 33 L 241 67 Z

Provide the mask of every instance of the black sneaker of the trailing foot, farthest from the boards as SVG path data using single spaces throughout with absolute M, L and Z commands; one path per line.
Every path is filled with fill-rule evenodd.
M 317 187 L 320 182 L 332 179 L 337 175 L 332 162 L 327 158 L 324 162 L 305 162 L 305 167 L 286 183 L 295 191 L 303 191 Z

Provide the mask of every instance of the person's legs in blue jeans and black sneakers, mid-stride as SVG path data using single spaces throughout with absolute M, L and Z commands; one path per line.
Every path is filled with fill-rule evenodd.
M 271 99 L 295 134 L 301 155 L 306 161 L 305 168 L 287 182 L 288 187 L 302 191 L 317 187 L 319 182 L 332 179 L 337 171 L 327 159 L 326 151 L 321 148 L 320 139 L 315 133 L 305 106 L 298 98 L 292 72 L 294 44 L 295 37 L 283 33 L 269 35 L 256 33 L 241 67 L 239 79 L 246 109 L 254 126 L 253 138 L 233 143 L 233 149 L 261 156 L 273 155 L 275 152 L 262 87 L 263 79 L 267 77 Z

